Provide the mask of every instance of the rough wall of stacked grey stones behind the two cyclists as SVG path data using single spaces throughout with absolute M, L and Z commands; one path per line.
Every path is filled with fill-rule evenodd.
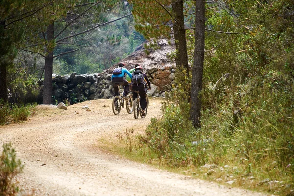
M 175 69 L 172 67 L 152 68 L 146 70 L 152 90 L 147 91 L 148 96 L 164 97 L 165 92 L 172 90 L 175 78 Z M 104 73 L 77 75 L 53 74 L 53 98 L 57 102 L 68 99 L 71 103 L 84 100 L 112 98 L 114 90 L 111 82 L 111 74 Z M 121 87 L 123 92 L 123 87 Z

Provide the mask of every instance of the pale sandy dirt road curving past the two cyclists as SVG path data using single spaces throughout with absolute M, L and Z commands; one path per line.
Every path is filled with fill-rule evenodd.
M 108 99 L 67 110 L 40 105 L 29 121 L 0 126 L 0 144 L 12 143 L 25 164 L 20 185 L 37 196 L 264 196 L 160 171 L 96 147 L 101 137 L 143 130 L 160 114 L 160 102 L 151 98 L 147 117 L 138 120 L 125 108 L 115 116 Z

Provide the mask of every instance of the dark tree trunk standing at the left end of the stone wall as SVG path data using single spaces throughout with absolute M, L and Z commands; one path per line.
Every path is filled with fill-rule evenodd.
M 43 89 L 43 104 L 51 104 L 52 102 L 52 73 L 53 73 L 53 51 L 52 44 L 54 39 L 54 22 L 47 27 L 47 55 L 45 57 L 45 73 L 44 73 L 44 89 Z

